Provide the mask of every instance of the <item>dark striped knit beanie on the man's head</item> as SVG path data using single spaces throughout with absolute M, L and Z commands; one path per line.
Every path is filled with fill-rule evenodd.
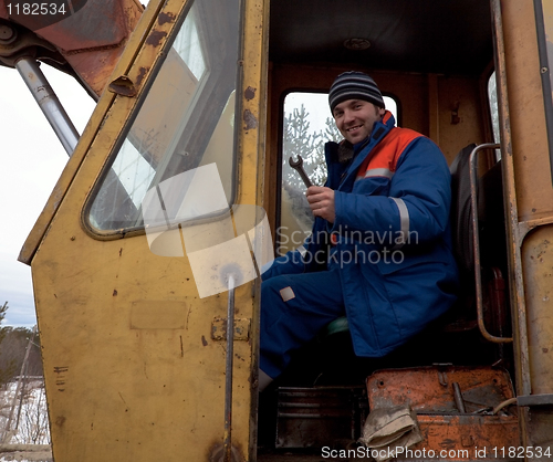
M 337 104 L 347 99 L 368 101 L 378 107 L 385 107 L 382 93 L 375 81 L 363 72 L 344 72 L 332 84 L 328 92 L 331 112 L 334 112 Z

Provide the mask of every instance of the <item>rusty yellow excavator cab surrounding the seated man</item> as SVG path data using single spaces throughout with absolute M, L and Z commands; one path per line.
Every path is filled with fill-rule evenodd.
M 374 455 L 369 416 L 400 406 L 420 438 L 392 459 L 551 453 L 547 3 L 152 0 L 138 15 L 103 72 L 53 45 L 100 95 L 20 254 L 54 459 L 347 460 Z M 263 267 L 311 220 L 288 159 L 306 153 L 324 180 L 325 94 L 349 70 L 451 166 L 459 302 L 377 360 L 338 319 L 260 395 Z

